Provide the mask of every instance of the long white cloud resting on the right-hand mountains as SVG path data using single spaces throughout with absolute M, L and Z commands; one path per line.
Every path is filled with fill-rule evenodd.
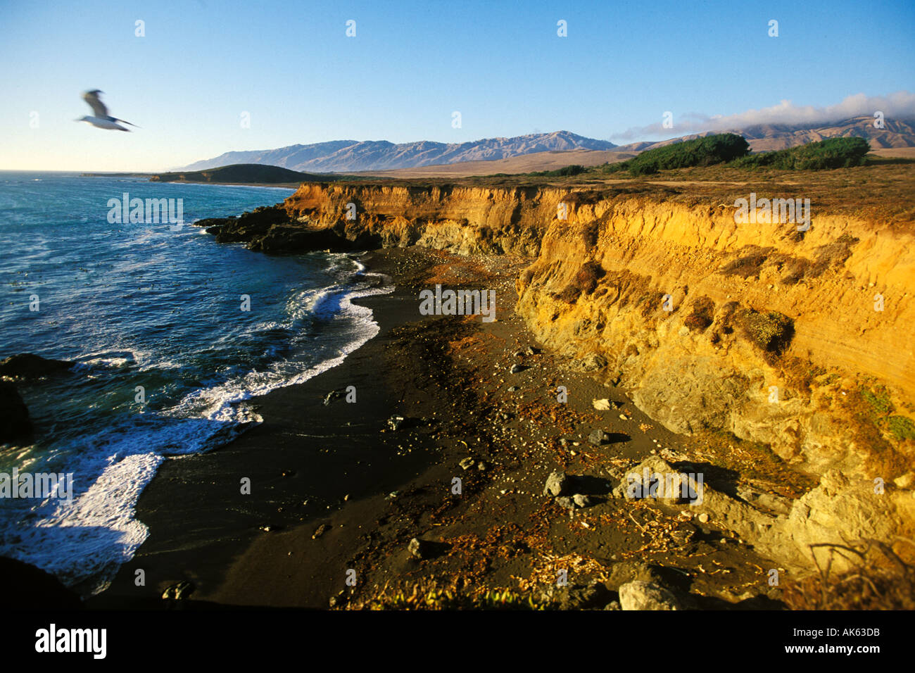
M 825 124 L 837 122 L 849 117 L 871 116 L 879 110 L 888 119 L 915 118 L 915 93 L 895 92 L 887 96 L 867 96 L 856 93 L 848 96 L 842 103 L 815 107 L 813 105 L 795 105 L 791 101 L 781 101 L 777 105 L 760 110 L 747 110 L 738 114 L 702 114 L 686 113 L 673 115 L 673 129 L 663 128 L 662 122 L 648 126 L 633 127 L 621 134 L 611 136 L 626 140 L 637 140 L 644 136 L 686 136 L 703 131 L 727 131 L 741 129 L 758 124 Z

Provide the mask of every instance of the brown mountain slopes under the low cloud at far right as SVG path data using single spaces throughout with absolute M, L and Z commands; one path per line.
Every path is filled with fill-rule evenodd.
M 705 131 L 705 133 L 662 140 L 661 142 L 631 143 L 630 145 L 617 147 L 617 151 L 641 152 L 654 147 L 680 143 L 684 140 L 693 140 L 694 138 L 728 132 L 747 138 L 749 148 L 753 152 L 770 152 L 775 149 L 806 145 L 826 138 L 855 136 L 866 138 L 872 149 L 877 149 L 878 147 L 915 147 L 915 120 L 885 119 L 882 129 L 875 128 L 874 122 L 874 117 L 866 116 L 817 125 L 760 124 L 740 129 Z

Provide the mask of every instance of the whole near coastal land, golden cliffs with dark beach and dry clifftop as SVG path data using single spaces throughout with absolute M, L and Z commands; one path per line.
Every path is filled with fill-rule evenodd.
M 313 182 L 199 222 L 373 251 L 394 290 L 343 364 L 163 465 L 90 605 L 907 606 L 911 170 Z M 751 195 L 810 222 L 738 222 Z M 495 320 L 421 311 L 439 285 L 493 292 Z M 634 474 L 702 497 L 627 497 Z

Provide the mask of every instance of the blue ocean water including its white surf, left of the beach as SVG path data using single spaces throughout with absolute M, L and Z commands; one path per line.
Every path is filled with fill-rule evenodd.
M 124 192 L 181 199 L 184 226 L 109 223 Z M 263 255 L 189 224 L 290 193 L 0 172 L 0 358 L 77 363 L 17 384 L 36 433 L 0 446 L 0 472 L 72 473 L 72 498 L 0 498 L 0 555 L 102 591 L 147 535 L 135 503 L 167 456 L 231 440 L 261 420 L 247 399 L 377 333 L 351 299 L 386 290 L 355 255 Z

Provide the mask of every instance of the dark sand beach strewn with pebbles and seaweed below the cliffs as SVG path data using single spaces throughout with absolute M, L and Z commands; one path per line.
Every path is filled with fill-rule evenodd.
M 394 284 L 360 300 L 380 333 L 307 383 L 253 400 L 264 423 L 239 439 L 166 461 L 137 505 L 149 537 L 88 606 L 378 607 L 435 586 L 466 601 L 511 589 L 603 609 L 620 583 L 643 579 L 694 607 L 778 607 L 765 582 L 771 563 L 733 533 L 699 523 L 688 505 L 609 495 L 652 452 L 673 459 L 708 446 L 674 436 L 625 391 L 532 341 L 513 310 L 514 279 L 528 263 L 371 253 L 370 270 Z M 495 289 L 497 320 L 421 316 L 419 290 L 436 283 Z M 524 369 L 512 374 L 513 364 Z M 324 404 L 348 385 L 355 403 Z M 597 411 L 594 399 L 614 404 Z M 394 415 L 404 417 L 396 430 Z M 594 429 L 608 442 L 589 443 Z M 545 496 L 554 470 L 583 475 L 590 505 L 566 510 Z M 422 559 L 408 550 L 414 537 Z M 141 569 L 145 585 L 136 586 Z M 563 570 L 568 586 L 557 590 Z M 184 598 L 163 600 L 181 581 Z

